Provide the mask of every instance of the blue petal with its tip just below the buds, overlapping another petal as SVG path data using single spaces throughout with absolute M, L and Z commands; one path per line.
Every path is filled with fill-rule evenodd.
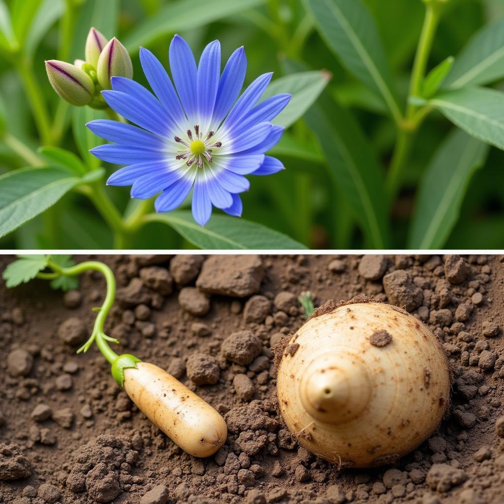
M 102 91 L 101 94 L 111 108 L 128 120 L 160 137 L 169 135 L 169 124 L 141 100 L 119 91 Z

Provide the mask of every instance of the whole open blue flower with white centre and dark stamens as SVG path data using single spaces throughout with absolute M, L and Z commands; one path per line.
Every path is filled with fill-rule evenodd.
M 258 77 L 238 98 L 245 78 L 243 47 L 236 49 L 221 74 L 218 40 L 208 44 L 196 65 L 191 48 L 178 35 L 169 49 L 173 86 L 159 60 L 140 49 L 140 61 L 155 96 L 137 82 L 112 77 L 112 90 L 103 97 L 116 112 L 138 125 L 113 120 L 87 124 L 113 144 L 91 152 L 109 163 L 127 165 L 107 183 L 132 185 L 133 198 L 159 196 L 158 212 L 177 208 L 193 189 L 196 222 L 205 225 L 212 206 L 240 216 L 239 193 L 248 191 L 244 175 L 270 175 L 282 163 L 264 153 L 282 136 L 271 120 L 291 95 L 279 94 L 257 104 L 271 80 Z

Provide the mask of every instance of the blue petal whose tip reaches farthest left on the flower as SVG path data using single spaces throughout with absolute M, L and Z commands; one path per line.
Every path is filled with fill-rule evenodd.
M 133 124 L 124 124 L 110 119 L 96 119 L 86 123 L 86 126 L 95 134 L 109 142 L 126 145 L 139 145 L 152 149 L 162 149 L 165 142 Z

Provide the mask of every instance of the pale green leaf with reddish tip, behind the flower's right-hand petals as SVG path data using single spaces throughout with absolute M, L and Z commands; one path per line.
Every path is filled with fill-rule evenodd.
M 274 124 L 288 128 L 308 110 L 324 91 L 330 79 L 331 74 L 324 70 L 299 72 L 280 77 L 266 88 L 261 101 L 279 93 L 292 94 L 287 106 L 272 121 Z

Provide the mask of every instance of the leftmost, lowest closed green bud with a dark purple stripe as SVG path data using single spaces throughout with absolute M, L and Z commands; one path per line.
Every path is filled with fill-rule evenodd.
M 47 77 L 54 91 L 72 105 L 87 105 L 94 96 L 93 81 L 86 72 L 57 59 L 45 62 Z

